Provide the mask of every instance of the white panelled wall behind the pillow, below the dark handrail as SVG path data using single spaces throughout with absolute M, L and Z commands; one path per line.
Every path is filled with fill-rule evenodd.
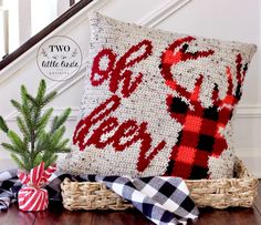
M 74 39 L 83 52 L 83 67 L 74 79 L 65 82 L 48 80 L 52 90 L 60 95 L 52 103 L 56 112 L 66 106 L 73 108 L 69 121 L 70 136 L 76 122 L 77 108 L 83 93 L 84 64 L 87 54 L 90 8 L 123 21 L 156 27 L 173 32 L 189 33 L 226 40 L 252 42 L 261 48 L 261 0 L 97 0 L 63 24 L 54 34 Z M 0 114 L 11 126 L 15 113 L 10 105 L 11 98 L 19 98 L 19 86 L 27 84 L 30 91 L 36 89 L 41 75 L 35 55 L 39 43 L 15 62 L 0 72 Z M 261 177 L 261 63 L 260 49 L 253 58 L 246 78 L 243 98 L 236 116 L 236 146 L 250 170 Z M 0 140 L 4 136 L 1 134 Z M 8 153 L 0 152 L 0 168 L 13 166 Z

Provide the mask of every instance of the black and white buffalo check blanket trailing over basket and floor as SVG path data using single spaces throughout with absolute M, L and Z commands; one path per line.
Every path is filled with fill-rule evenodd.
M 45 186 L 50 201 L 62 201 L 60 184 L 65 177 L 77 182 L 103 182 L 105 185 L 130 202 L 147 218 L 159 225 L 187 224 L 198 217 L 198 208 L 189 197 L 186 183 L 178 177 L 149 176 L 130 178 L 126 176 L 101 176 L 54 173 Z M 22 184 L 17 170 L 0 173 L 0 209 L 8 209 L 17 202 Z

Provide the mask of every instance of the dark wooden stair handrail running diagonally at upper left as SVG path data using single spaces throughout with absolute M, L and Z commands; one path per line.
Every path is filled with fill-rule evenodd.
M 66 12 L 64 12 L 58 19 L 55 19 L 53 22 L 51 22 L 48 27 L 45 27 L 39 33 L 33 35 L 27 42 L 24 42 L 15 51 L 13 51 L 12 53 L 10 53 L 7 57 L 4 57 L 4 59 L 2 61 L 0 61 L 0 71 L 3 68 L 6 68 L 9 63 L 14 61 L 17 58 L 19 58 L 21 54 L 23 54 L 25 51 L 28 51 L 30 48 L 32 48 L 35 43 L 41 41 L 44 37 L 46 37 L 53 30 L 55 30 L 63 22 L 65 22 L 71 17 L 73 17 L 75 13 L 77 13 L 81 9 L 83 9 L 84 7 L 90 4 L 92 1 L 93 0 L 82 0 L 82 1 L 79 1 L 76 4 L 74 4 L 72 8 L 70 8 Z

